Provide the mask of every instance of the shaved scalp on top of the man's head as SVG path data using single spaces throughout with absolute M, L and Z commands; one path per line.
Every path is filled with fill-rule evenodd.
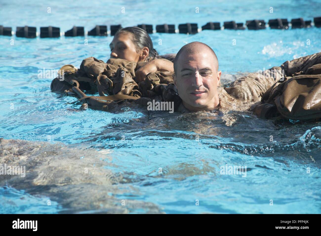
M 186 53 L 186 55 L 191 55 L 191 54 L 194 54 L 194 53 L 202 53 L 205 50 L 208 50 L 213 55 L 213 60 L 214 60 L 214 63 L 215 63 L 215 67 L 216 67 L 216 70 L 218 71 L 218 69 L 219 69 L 219 61 L 218 61 L 218 59 L 216 57 L 216 54 L 213 51 L 213 49 L 210 46 L 206 45 L 205 43 L 201 43 L 201 42 L 195 41 L 195 42 L 188 43 L 188 44 L 184 45 L 181 49 L 179 49 L 178 53 L 176 54 L 175 60 L 174 60 L 174 72 L 175 72 L 175 74 L 177 74 L 177 66 L 178 66 L 178 63 L 179 63 L 179 57 L 181 56 L 182 53 Z

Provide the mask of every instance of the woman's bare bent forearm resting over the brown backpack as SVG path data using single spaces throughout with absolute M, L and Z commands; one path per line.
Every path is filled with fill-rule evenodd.
M 155 71 L 174 71 L 174 64 L 163 58 L 147 62 L 146 65 L 135 71 L 135 81 L 142 82 L 145 80 L 145 75 Z

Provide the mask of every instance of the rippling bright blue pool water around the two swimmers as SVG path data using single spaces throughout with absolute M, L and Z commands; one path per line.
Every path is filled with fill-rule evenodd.
M 61 31 L 96 24 L 201 27 L 209 21 L 312 20 L 321 12 L 321 1 L 69 2 L 1 3 L 0 24 L 38 31 L 49 25 Z M 314 27 L 151 34 L 160 54 L 192 41 L 208 44 L 223 83 L 320 52 L 320 36 Z M 66 104 L 74 98 L 50 92 L 52 78 L 38 78 L 44 67 L 79 67 L 90 56 L 107 61 L 111 40 L 0 36 L 0 137 L 14 139 L 1 144 L 0 163 L 27 170 L 24 178 L 0 175 L 0 213 L 321 213 L 320 122 L 263 120 L 248 112 L 169 114 L 133 104 L 83 111 Z M 221 175 L 225 164 L 247 166 L 246 178 Z

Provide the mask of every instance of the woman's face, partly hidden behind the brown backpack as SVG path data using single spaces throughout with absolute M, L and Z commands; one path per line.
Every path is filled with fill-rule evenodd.
M 119 58 L 135 62 L 141 60 L 130 38 L 130 33 L 119 33 L 114 37 L 113 41 L 111 41 L 109 47 L 111 50 L 110 58 Z

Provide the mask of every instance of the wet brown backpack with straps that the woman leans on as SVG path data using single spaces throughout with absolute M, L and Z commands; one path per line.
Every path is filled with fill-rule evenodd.
M 138 85 L 133 79 L 134 63 L 122 59 L 110 59 L 108 62 L 110 64 L 89 57 L 82 61 L 80 69 L 72 65 L 63 66 L 60 70 L 65 71 L 64 80 L 59 78 L 61 75 L 55 78 L 51 91 L 77 97 L 78 101 L 84 102 L 82 109 L 108 111 L 124 100 L 137 100 L 142 94 L 144 97 L 164 95 L 166 86 L 173 82 L 173 73 L 165 71 L 146 75 L 145 81 Z M 87 96 L 85 91 L 99 92 L 100 96 Z M 171 93 L 166 92 L 165 97 L 170 97 Z M 137 103 L 144 105 L 142 101 Z

